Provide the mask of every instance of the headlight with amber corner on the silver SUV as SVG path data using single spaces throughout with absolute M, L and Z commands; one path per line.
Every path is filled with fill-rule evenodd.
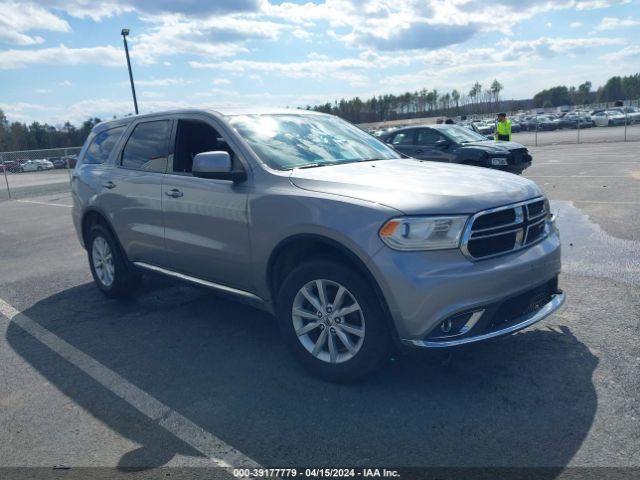
M 445 250 L 458 248 L 467 223 L 460 217 L 392 218 L 380 229 L 384 243 L 394 250 Z

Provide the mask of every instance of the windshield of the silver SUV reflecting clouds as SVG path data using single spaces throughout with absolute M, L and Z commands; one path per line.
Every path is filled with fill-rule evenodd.
M 237 115 L 231 125 L 260 159 L 277 170 L 400 158 L 371 135 L 324 115 Z

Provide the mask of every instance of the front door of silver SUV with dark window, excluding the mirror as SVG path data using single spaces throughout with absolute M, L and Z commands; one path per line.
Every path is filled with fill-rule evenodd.
M 233 183 L 191 173 L 193 157 L 208 151 L 226 151 L 234 169 L 247 170 L 222 130 L 205 116 L 180 116 L 176 121 L 174 152 L 162 185 L 167 262 L 182 274 L 252 291 L 247 211 L 251 178 Z

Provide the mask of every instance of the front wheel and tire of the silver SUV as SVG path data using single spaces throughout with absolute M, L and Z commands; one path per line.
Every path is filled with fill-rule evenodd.
M 334 307 L 341 288 L 339 305 Z M 324 307 L 323 311 L 317 307 Z M 333 316 L 344 310 L 349 313 Z M 347 383 L 364 379 L 389 358 L 391 341 L 385 313 L 371 285 L 351 268 L 328 260 L 303 263 L 282 283 L 277 314 L 294 356 L 324 380 Z M 304 333 L 298 335 L 301 330 Z

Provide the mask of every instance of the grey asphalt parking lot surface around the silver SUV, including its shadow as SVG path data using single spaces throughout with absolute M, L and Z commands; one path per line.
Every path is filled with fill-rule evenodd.
M 68 193 L 0 202 L 0 467 L 636 467 L 622 470 L 632 478 L 640 143 L 531 150 L 525 176 L 558 214 L 564 308 L 450 358 L 398 356 L 357 385 L 310 377 L 270 316 L 207 291 L 149 277 L 136 299 L 106 299 Z

